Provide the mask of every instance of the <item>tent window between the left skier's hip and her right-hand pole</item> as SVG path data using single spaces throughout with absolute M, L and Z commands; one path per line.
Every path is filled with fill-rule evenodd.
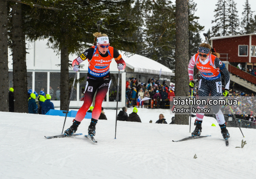
M 109 87 L 109 101 L 116 101 L 116 94 L 117 94 L 117 82 L 118 82 L 118 73 L 111 73 L 111 84 Z M 118 101 L 121 101 L 122 91 L 122 74 L 120 74 L 119 78 L 119 93 L 118 93 Z

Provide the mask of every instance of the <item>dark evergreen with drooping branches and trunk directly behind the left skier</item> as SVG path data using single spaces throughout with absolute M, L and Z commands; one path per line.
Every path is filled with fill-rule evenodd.
M 38 25 L 41 30 L 34 36 L 31 35 L 30 39 L 49 38 L 48 45 L 60 53 L 61 109 L 67 109 L 69 99 L 68 56 L 69 54 L 81 54 L 85 48 L 90 47 L 88 42 L 90 44 L 94 42 L 92 34 L 98 31 L 98 20 L 103 20 L 101 32 L 109 36 L 111 46 L 128 52 L 135 49 L 135 43 L 127 40 L 136 30 L 135 23 L 130 18 L 131 4 L 130 0 L 119 2 L 58 1 L 53 5 L 62 11 L 41 10 L 38 18 L 31 20 L 30 23 Z

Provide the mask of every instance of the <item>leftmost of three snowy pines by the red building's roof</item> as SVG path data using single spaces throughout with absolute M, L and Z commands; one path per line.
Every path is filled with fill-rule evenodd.
M 215 20 L 212 23 L 217 23 L 212 27 L 212 34 L 214 37 L 227 36 L 228 35 L 228 0 L 218 0 L 216 4 L 217 8 L 214 10 L 216 14 L 214 15 Z

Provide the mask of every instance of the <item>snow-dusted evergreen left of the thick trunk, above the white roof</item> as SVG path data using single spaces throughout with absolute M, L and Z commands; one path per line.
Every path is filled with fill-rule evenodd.
M 145 11 L 147 47 L 142 55 L 173 69 L 175 14 L 172 2 L 146 1 Z

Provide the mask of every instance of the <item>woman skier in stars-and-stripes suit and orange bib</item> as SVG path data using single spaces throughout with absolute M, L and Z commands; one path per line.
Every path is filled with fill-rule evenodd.
M 222 63 L 219 59 L 220 54 L 215 52 L 215 49 L 211 48 L 209 44 L 199 45 L 197 54 L 191 57 L 188 65 L 188 74 L 189 74 L 189 87 L 194 88 L 194 66 L 196 65 L 197 69 L 201 72 L 201 77 L 199 80 L 198 87 L 198 96 L 199 99 L 204 99 L 206 96 L 211 96 L 213 99 L 219 99 L 221 94 L 223 96 L 228 96 L 229 89 L 229 73 L 225 67 L 225 64 Z M 220 71 L 225 75 L 225 91 L 222 93 L 221 89 L 221 75 Z M 197 108 L 204 109 L 205 105 L 198 105 Z M 211 105 L 213 112 L 216 115 L 217 121 L 221 128 L 221 134 L 223 139 L 228 139 L 230 137 L 226 122 L 223 113 L 220 110 L 219 105 Z M 196 127 L 192 136 L 200 136 L 202 132 L 202 122 L 203 122 L 204 113 L 196 113 Z

